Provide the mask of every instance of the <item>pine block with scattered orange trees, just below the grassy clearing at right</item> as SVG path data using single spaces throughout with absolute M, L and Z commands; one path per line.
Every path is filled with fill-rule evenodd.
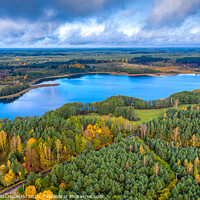
M 191 105 L 180 111 L 169 109 L 163 117 L 148 122 L 146 135 L 180 146 L 200 146 L 199 119 L 199 106 Z

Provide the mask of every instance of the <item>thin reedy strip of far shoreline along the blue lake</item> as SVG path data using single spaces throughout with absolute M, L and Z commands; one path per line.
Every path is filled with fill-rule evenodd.
M 16 97 L 20 97 L 21 95 L 25 94 L 26 92 L 32 90 L 32 89 L 36 89 L 36 88 L 40 88 L 40 87 L 51 87 L 51 86 L 58 86 L 60 85 L 59 83 L 56 84 L 41 84 L 41 85 L 34 85 L 34 84 L 39 84 L 41 82 L 44 81 L 48 81 L 48 80 L 56 80 L 56 79 L 60 79 L 60 78 L 74 78 L 76 76 L 84 76 L 84 75 L 92 75 L 92 74 L 102 74 L 102 75 L 114 75 L 114 76 L 129 76 L 129 77 L 140 77 L 140 76 L 149 76 L 149 77 L 162 77 L 162 76 L 175 76 L 175 75 L 180 75 L 183 73 L 177 73 L 177 74 L 167 74 L 167 73 L 161 73 L 161 74 L 128 74 L 125 72 L 86 72 L 86 73 L 75 73 L 75 74 L 66 74 L 66 75 L 58 75 L 58 76 L 50 76 L 50 77 L 44 77 L 44 78 L 39 78 L 36 79 L 32 82 L 30 82 L 30 87 L 22 90 L 18 93 L 15 94 L 11 94 L 11 95 L 7 95 L 7 96 L 2 96 L 0 97 L 0 99 L 11 99 L 11 98 L 16 98 Z M 199 74 L 199 73 L 192 73 L 192 74 Z M 187 74 L 185 74 L 187 75 Z

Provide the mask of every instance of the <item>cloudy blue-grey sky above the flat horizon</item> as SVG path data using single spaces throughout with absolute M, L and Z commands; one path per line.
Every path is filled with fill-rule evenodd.
M 200 0 L 0 0 L 0 48 L 200 46 Z

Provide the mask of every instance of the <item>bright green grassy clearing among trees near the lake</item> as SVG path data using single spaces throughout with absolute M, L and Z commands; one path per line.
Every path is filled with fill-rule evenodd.
M 189 105 L 181 105 L 178 106 L 178 110 L 180 110 L 182 107 L 189 106 Z M 136 121 L 136 124 L 141 124 L 143 122 L 148 122 L 150 120 L 156 119 L 159 116 L 163 115 L 169 108 L 163 108 L 163 109 L 149 109 L 149 110 L 138 110 L 135 109 L 135 116 L 140 118 L 141 120 Z

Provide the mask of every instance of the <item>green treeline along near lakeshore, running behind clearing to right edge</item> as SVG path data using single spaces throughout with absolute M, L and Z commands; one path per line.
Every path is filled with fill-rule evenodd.
M 103 101 L 95 103 L 68 103 L 56 109 L 65 119 L 71 115 L 80 115 L 96 112 L 101 115 L 114 114 L 126 119 L 136 121 L 134 109 L 161 109 L 170 108 L 182 104 L 200 103 L 199 92 L 180 92 L 169 98 L 145 101 L 135 97 L 112 96 Z

